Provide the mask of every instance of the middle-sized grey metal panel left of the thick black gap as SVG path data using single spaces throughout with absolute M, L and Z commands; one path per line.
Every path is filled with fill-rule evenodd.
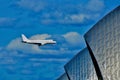
M 70 80 L 98 80 L 88 49 L 80 51 L 65 65 Z

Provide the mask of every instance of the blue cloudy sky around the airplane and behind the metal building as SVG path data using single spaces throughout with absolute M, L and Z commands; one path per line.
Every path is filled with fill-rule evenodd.
M 0 80 L 55 80 L 85 47 L 84 34 L 120 0 L 0 0 Z M 21 43 L 53 39 L 54 45 Z

